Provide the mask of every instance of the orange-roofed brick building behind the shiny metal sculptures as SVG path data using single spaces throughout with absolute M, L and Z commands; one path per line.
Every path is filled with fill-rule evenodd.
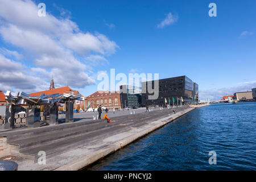
M 45 93 L 47 95 L 51 95 L 54 93 L 64 94 L 64 93 L 70 93 L 70 92 L 73 92 L 74 94 L 79 93 L 78 91 L 72 90 L 71 88 L 69 88 L 69 86 L 64 86 L 61 88 L 56 88 L 56 89 L 50 88 L 50 90 L 44 90 L 41 92 L 30 93 L 30 96 L 40 96 L 43 93 Z M 83 96 L 81 96 L 81 97 L 83 97 Z M 79 109 L 79 108 L 84 110 L 84 101 L 75 101 L 74 109 Z M 60 110 L 63 110 L 63 109 L 60 109 Z M 65 110 L 65 106 L 64 106 L 64 110 Z

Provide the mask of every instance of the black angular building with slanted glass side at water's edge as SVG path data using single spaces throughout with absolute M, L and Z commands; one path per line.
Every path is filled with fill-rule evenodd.
M 155 100 L 148 98 L 148 81 L 142 82 L 142 106 L 164 106 L 164 105 L 180 105 L 180 104 L 196 104 L 199 102 L 199 86 L 187 76 L 179 76 L 165 78 L 159 80 L 159 96 Z M 154 81 L 152 81 L 154 88 Z M 177 101 L 178 100 L 178 101 Z

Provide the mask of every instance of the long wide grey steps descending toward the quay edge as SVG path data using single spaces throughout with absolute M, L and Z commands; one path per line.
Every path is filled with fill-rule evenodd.
M 184 107 L 176 109 L 183 110 Z M 112 135 L 130 130 L 132 127 L 147 125 L 148 122 L 167 117 L 172 109 L 122 115 L 112 118 L 112 123 L 103 119 L 63 123 L 55 126 L 44 126 L 36 129 L 20 129 L 0 132 L 0 137 L 7 137 L 11 155 L 32 159 L 40 157 L 39 151 L 46 152 L 46 158 L 52 158 L 63 152 L 96 142 Z

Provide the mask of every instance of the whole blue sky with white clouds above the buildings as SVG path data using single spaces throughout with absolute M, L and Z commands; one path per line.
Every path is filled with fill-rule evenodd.
M 40 2 L 47 15 L 34 18 Z M 211 2 L 216 17 L 208 15 Z M 202 100 L 247 91 L 256 87 L 255 5 L 0 0 L 0 89 L 45 90 L 53 75 L 56 86 L 87 96 L 97 90 L 97 74 L 114 68 L 127 75 L 186 75 L 199 84 Z

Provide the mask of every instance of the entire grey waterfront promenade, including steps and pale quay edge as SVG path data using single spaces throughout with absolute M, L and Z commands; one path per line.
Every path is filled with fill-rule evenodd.
M 193 109 L 177 107 L 176 114 L 172 108 L 149 113 L 137 110 L 137 114 L 127 111 L 112 117 L 112 123 L 88 117 L 74 123 L 0 132 L 0 136 L 7 136 L 15 155 L 10 157 L 18 163 L 18 170 L 78 170 Z M 38 164 L 39 151 L 46 152 L 46 164 Z

